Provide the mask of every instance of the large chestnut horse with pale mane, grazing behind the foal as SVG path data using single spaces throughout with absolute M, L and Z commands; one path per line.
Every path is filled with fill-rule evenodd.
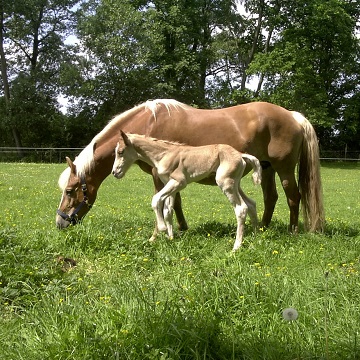
M 59 178 L 63 191 L 56 216 L 59 228 L 76 224 L 94 203 L 99 186 L 111 173 L 120 129 L 192 146 L 223 143 L 254 155 L 263 168 L 262 225 L 269 225 L 278 199 L 277 173 L 290 209 L 290 230 L 298 230 L 300 199 L 305 228 L 317 231 L 324 226 L 317 137 L 301 114 L 265 102 L 202 110 L 175 100 L 154 100 L 116 116 L 74 162 L 67 158 L 69 167 Z M 299 186 L 295 179 L 297 163 Z M 139 161 L 138 165 L 152 174 L 155 189 L 159 191 L 163 183 L 156 171 L 144 162 Z M 250 167 L 245 173 L 248 171 Z M 205 179 L 202 183 L 214 185 L 215 179 Z M 187 229 L 179 194 L 174 210 L 180 229 Z

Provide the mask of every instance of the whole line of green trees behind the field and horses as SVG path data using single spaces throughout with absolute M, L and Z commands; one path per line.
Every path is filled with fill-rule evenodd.
M 0 146 L 83 146 L 116 113 L 175 98 L 273 102 L 323 149 L 358 150 L 359 14 L 352 0 L 0 0 Z

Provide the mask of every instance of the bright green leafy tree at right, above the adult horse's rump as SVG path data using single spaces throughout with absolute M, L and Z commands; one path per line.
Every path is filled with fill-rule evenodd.
M 356 2 L 282 2 L 280 37 L 259 53 L 250 73 L 266 78 L 261 96 L 303 112 L 330 144 L 344 101 L 355 93 L 359 40 Z

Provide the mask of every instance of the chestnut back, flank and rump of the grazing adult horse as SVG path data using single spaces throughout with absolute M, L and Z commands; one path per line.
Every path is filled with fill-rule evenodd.
M 276 163 L 298 152 L 302 127 L 291 111 L 266 102 L 224 109 L 192 107 L 162 111 L 150 135 L 192 146 L 228 144 L 262 161 Z

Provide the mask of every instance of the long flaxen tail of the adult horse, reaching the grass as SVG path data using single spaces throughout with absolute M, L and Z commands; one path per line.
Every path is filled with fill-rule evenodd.
M 304 226 L 308 231 L 322 231 L 325 225 L 325 212 L 317 136 L 311 123 L 305 117 L 296 112 L 293 112 L 293 116 L 304 129 L 298 180 Z

